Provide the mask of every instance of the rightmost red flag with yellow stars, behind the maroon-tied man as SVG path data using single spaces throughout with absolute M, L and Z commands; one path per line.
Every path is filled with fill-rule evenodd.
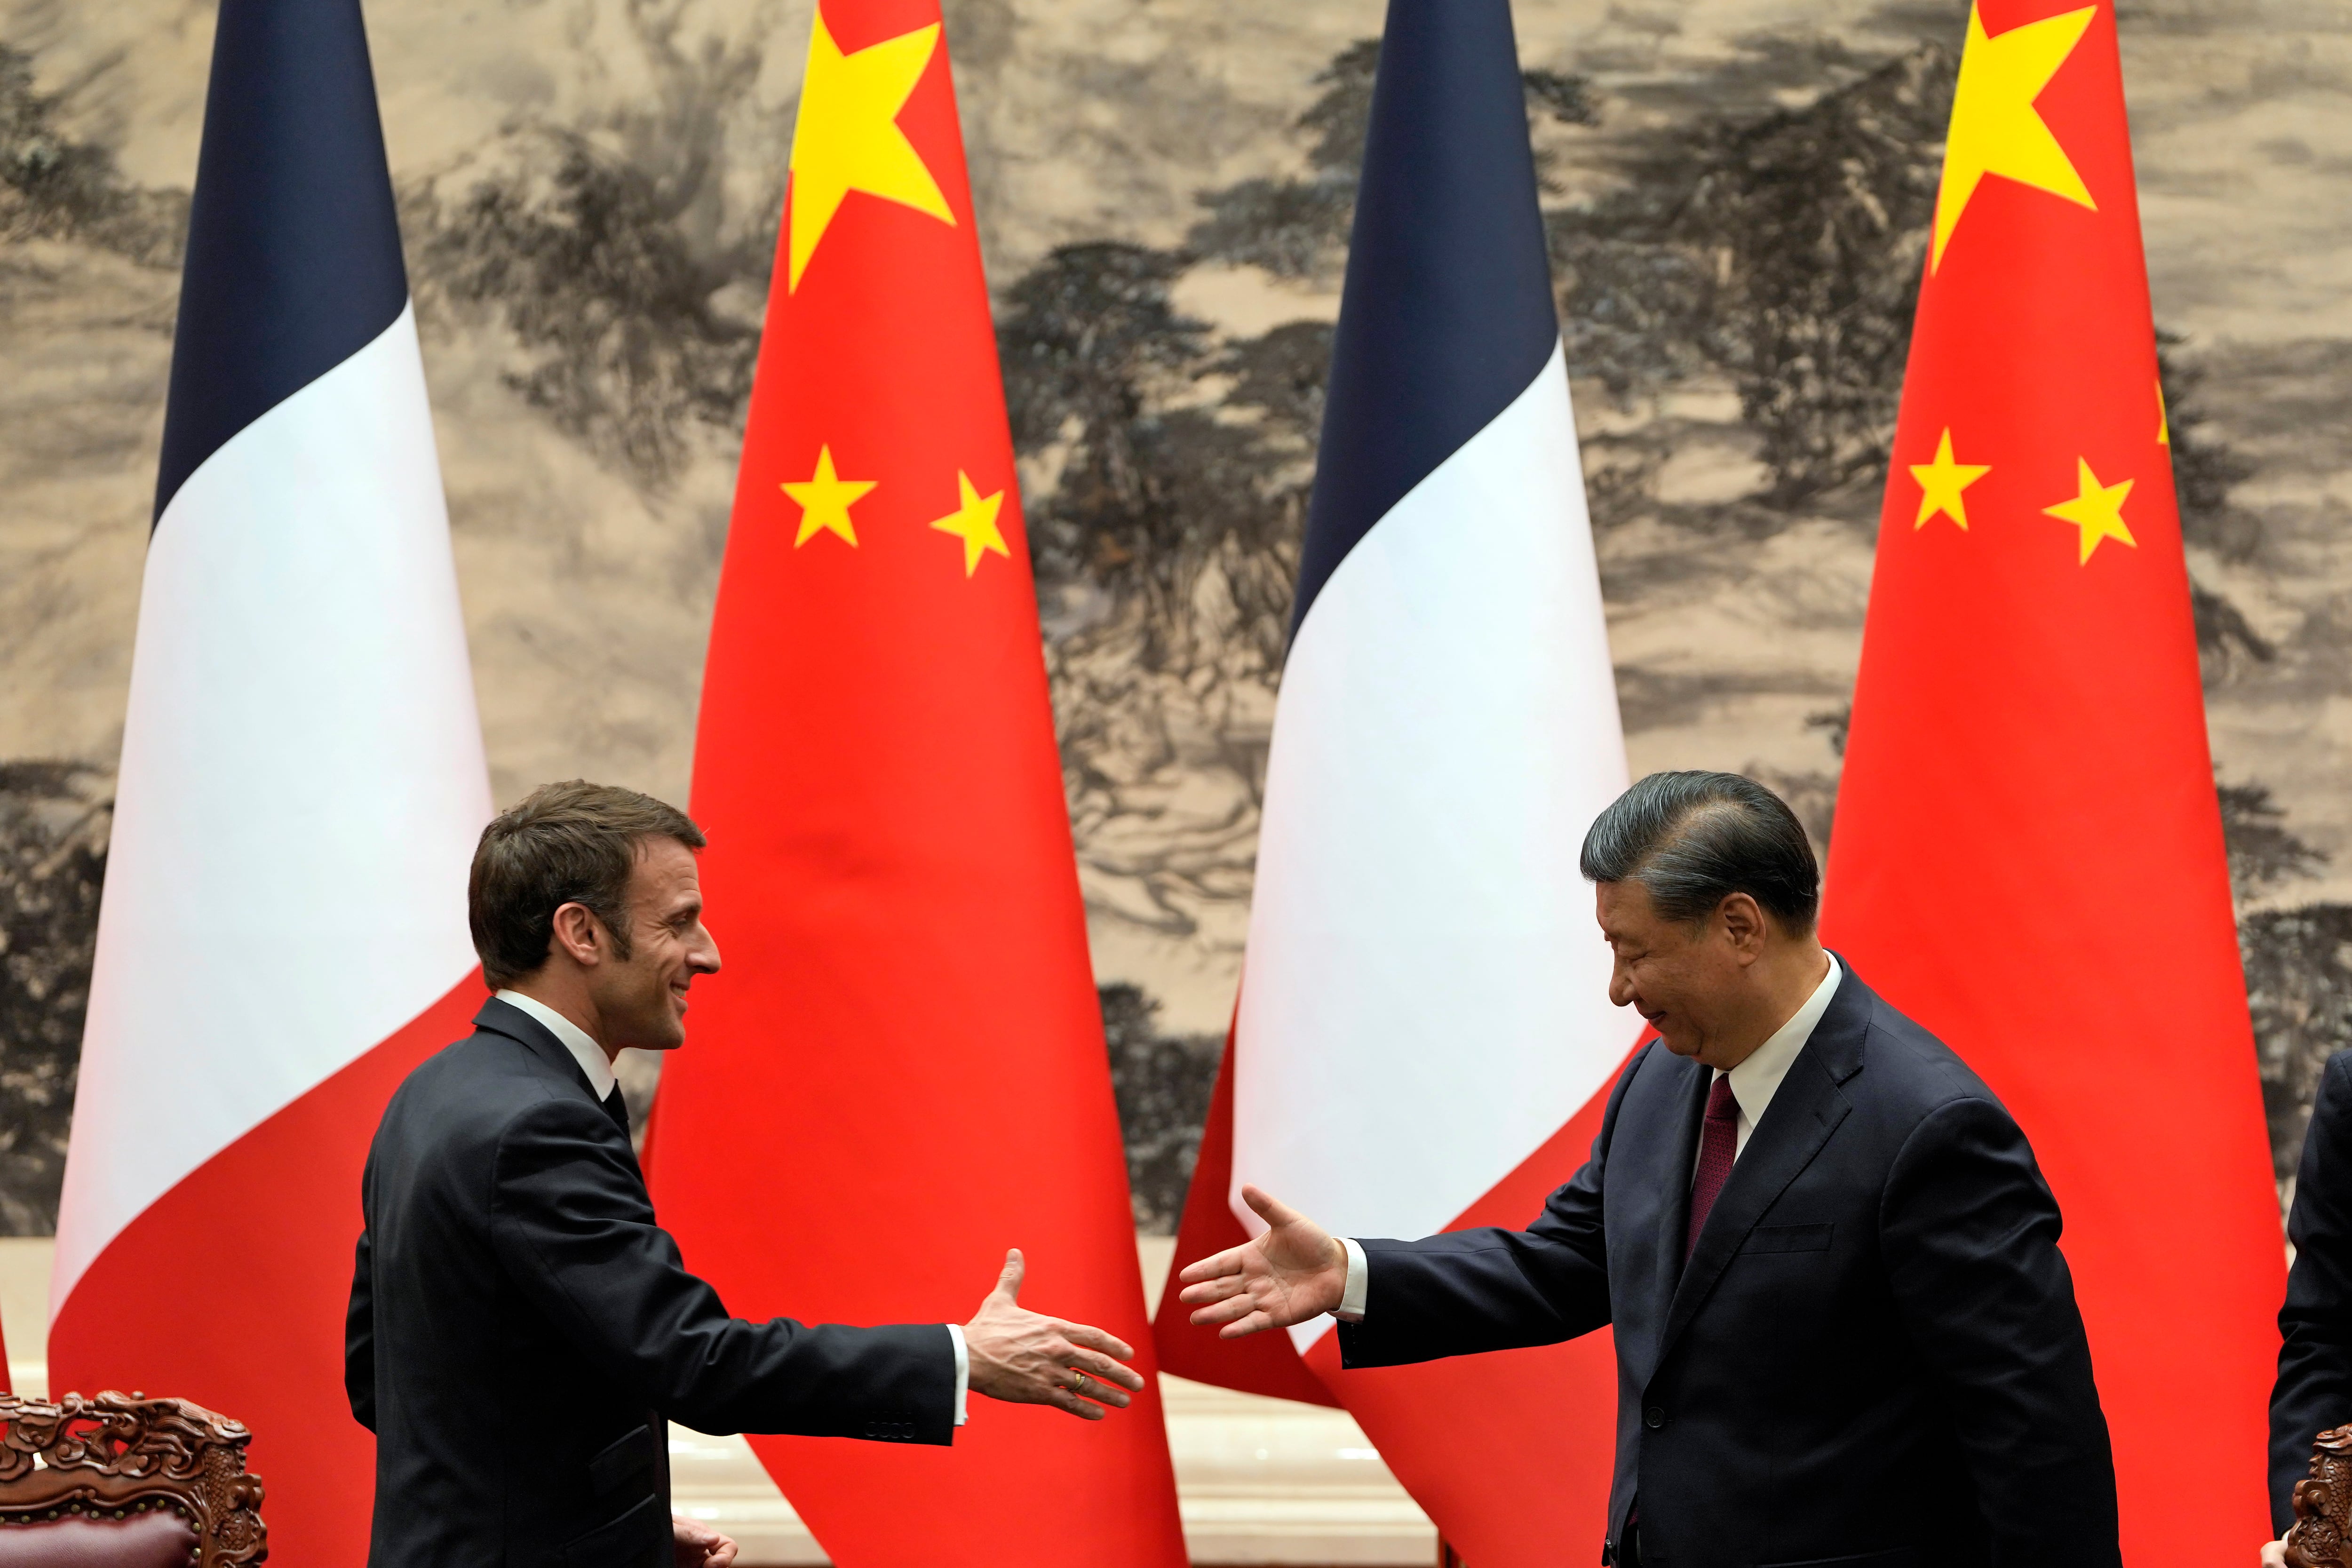
M 2286 1281 L 2112 5 L 1969 16 L 1849 736 L 1825 931 L 2032 1138 L 2124 1561 L 2253 1561 Z

